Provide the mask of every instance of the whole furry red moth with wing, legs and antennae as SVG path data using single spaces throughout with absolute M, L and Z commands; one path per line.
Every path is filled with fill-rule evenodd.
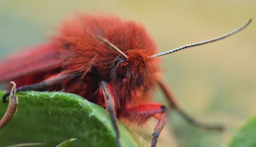
M 158 74 L 160 56 L 221 40 L 248 26 L 214 39 L 184 45 L 157 53 L 152 37 L 141 24 L 113 16 L 82 15 L 62 24 L 58 35 L 42 45 L 16 53 L 0 64 L 0 82 L 15 80 L 16 91 L 62 90 L 83 96 L 105 108 L 119 143 L 117 118 L 143 124 L 151 117 L 158 119 L 151 146 L 167 121 L 168 109 L 151 102 L 154 87 L 159 86 L 169 104 L 192 125 L 221 130 L 187 115 L 176 104 L 174 96 Z M 3 96 L 3 102 L 10 91 Z

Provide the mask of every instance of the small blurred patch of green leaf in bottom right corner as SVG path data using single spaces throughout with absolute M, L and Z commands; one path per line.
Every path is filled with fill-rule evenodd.
M 233 137 L 229 147 L 255 147 L 256 146 L 256 117 L 253 117 L 247 125 Z

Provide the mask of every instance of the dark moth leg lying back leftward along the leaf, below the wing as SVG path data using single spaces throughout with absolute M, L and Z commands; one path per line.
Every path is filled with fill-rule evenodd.
M 51 85 L 54 85 L 56 83 L 59 83 L 63 80 L 66 80 L 67 78 L 73 78 L 73 77 L 78 77 L 80 76 L 80 73 L 71 73 L 71 74 L 58 74 L 56 76 L 52 76 L 49 79 L 46 79 L 42 82 L 36 83 L 36 84 L 31 84 L 31 85 L 26 85 L 26 86 L 22 86 L 19 88 L 16 88 L 16 92 L 19 91 L 28 91 L 28 90 L 37 90 L 37 89 L 43 89 L 43 88 L 47 88 Z M 11 91 L 7 91 L 3 97 L 2 97 L 2 101 L 6 102 L 6 98 L 7 96 L 10 95 Z

